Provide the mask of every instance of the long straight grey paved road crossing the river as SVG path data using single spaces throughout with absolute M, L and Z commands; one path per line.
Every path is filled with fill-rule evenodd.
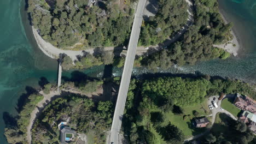
M 143 19 L 142 14 L 143 14 L 145 4 L 146 4 L 146 0 L 139 0 L 137 11 L 133 21 L 130 41 L 129 41 L 127 55 L 125 59 L 123 75 L 122 75 L 121 83 L 119 87 L 117 104 L 115 105 L 115 112 L 114 112 L 112 127 L 110 131 L 109 143 L 111 142 L 120 143 L 118 137 L 121 129 L 121 123 L 122 123 L 122 118 L 124 114 L 124 108 L 125 108 L 125 102 L 126 102 L 127 92 L 129 88 L 129 83 L 131 79 L 133 62 L 136 54 L 136 48 L 138 45 L 139 33 L 141 31 L 141 24 Z

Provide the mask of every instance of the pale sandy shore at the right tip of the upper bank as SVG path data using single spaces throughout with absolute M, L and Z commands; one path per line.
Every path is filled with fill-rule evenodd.
M 225 16 L 223 15 L 223 12 L 219 10 L 220 15 L 222 16 L 222 19 L 224 20 L 225 24 L 229 23 L 228 20 L 226 20 Z M 234 32 L 234 29 L 231 29 L 231 34 L 233 35 L 233 39 L 226 42 L 225 44 L 221 45 L 213 45 L 219 48 L 222 48 L 226 50 L 227 52 L 231 53 L 234 56 L 238 55 L 238 50 L 240 49 L 239 39 L 237 38 L 237 35 Z

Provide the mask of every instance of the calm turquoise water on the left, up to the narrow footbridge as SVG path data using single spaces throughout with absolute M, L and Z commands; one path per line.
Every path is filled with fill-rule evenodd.
M 40 77 L 57 81 L 57 62 L 46 57 L 35 44 L 24 5 L 21 0 L 0 1 L 0 143 L 7 143 L 3 136 L 3 112 L 16 115 L 15 107 L 20 95 L 26 93 L 26 86 L 38 88 Z M 95 71 L 103 68 L 85 73 L 97 76 Z

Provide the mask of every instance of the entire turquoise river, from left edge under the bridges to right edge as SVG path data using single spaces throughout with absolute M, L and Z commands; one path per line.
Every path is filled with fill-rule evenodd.
M 203 73 L 241 79 L 247 82 L 256 81 L 256 2 L 254 0 L 220 0 L 220 9 L 226 19 L 234 23 L 235 32 L 240 38 L 242 49 L 238 57 L 226 60 L 214 59 L 199 62 L 195 65 L 171 68 L 166 73 Z M 26 87 L 39 87 L 40 78 L 56 83 L 57 62 L 46 57 L 37 47 L 31 33 L 30 23 L 25 13 L 25 2 L 22 0 L 4 0 L 0 2 L 0 141 L 4 138 L 4 117 L 6 113 L 16 115 L 18 101 L 26 93 Z M 103 75 L 104 67 L 84 70 L 89 76 Z M 147 72 L 142 68 L 133 70 L 139 75 Z M 64 76 L 71 76 L 66 71 Z M 113 69 L 120 75 L 120 69 Z M 42 79 L 42 80 L 45 80 Z M 18 100 L 21 98 L 20 100 Z M 20 104 L 20 103 L 19 103 Z

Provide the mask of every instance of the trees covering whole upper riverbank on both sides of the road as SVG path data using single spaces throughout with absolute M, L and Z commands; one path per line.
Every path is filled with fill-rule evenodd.
M 144 55 L 137 58 L 141 65 L 150 69 L 156 67 L 165 69 L 173 64 L 194 64 L 197 61 L 229 57 L 228 52 L 217 48 L 226 49 L 226 46 L 219 44 L 226 45 L 234 38 L 230 33 L 232 24 L 225 24 L 223 21 L 217 1 L 193 2 L 193 25 L 178 41 L 164 47 L 165 49 L 153 53 L 150 50 L 145 51 Z M 59 57 L 60 53 L 66 53 L 73 61 L 79 61 L 77 56 L 83 57 L 85 55 L 83 50 L 92 54 L 95 47 L 106 47 L 107 51 L 113 52 L 116 46 L 127 45 L 134 11 L 133 4 L 135 2 L 130 1 L 114 7 L 114 1 L 107 1 L 95 7 L 88 7 L 79 0 L 69 3 L 58 2 L 55 5 L 28 1 L 28 13 L 32 17 L 33 33 L 44 53 L 52 58 Z M 155 16 L 143 22 L 139 45 L 163 43 L 164 40 L 178 33 L 187 19 L 188 3 L 185 1 L 159 1 Z M 79 23 L 81 21 L 86 23 Z M 60 34 L 62 36 L 57 37 Z M 117 58 L 120 58 L 120 52 L 118 53 Z

